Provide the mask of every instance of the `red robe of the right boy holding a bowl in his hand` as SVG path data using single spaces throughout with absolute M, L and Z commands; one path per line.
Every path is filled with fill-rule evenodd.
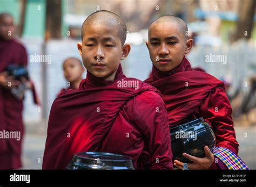
M 203 117 L 215 133 L 216 147 L 238 154 L 232 108 L 223 82 L 203 71 L 193 70 L 185 57 L 171 71 L 163 72 L 153 66 L 152 75 L 144 82 L 161 91 L 170 127 Z M 212 164 L 213 168 L 226 167 L 218 160 L 218 163 Z

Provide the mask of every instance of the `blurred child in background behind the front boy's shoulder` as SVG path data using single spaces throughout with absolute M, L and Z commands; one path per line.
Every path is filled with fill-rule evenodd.
M 80 82 L 83 80 L 84 73 L 83 63 L 76 57 L 69 57 L 63 62 L 64 77 L 66 78 L 67 87 L 60 90 L 58 96 L 68 89 L 78 89 Z

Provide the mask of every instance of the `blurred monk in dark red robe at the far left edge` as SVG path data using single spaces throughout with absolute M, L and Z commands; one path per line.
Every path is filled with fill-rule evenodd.
M 24 77 L 22 81 L 15 80 L 14 76 L 9 76 L 5 71 L 10 64 L 24 67 L 28 64 L 26 49 L 14 39 L 14 32 L 14 18 L 9 13 L 0 13 L 0 169 L 22 167 L 24 97 L 15 97 L 11 89 L 25 84 L 26 88 L 33 91 L 34 102 L 38 104 L 32 82 Z M 13 135 L 11 138 L 10 134 L 16 134 L 16 136 Z

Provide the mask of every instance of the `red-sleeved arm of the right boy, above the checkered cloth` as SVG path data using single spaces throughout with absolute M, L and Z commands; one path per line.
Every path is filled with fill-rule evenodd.
M 201 106 L 201 109 L 207 111 L 203 117 L 212 125 L 216 136 L 216 147 L 224 147 L 238 154 L 239 144 L 235 139 L 231 117 L 232 108 L 225 90 L 223 88 L 213 90 L 206 100 L 207 102 Z M 204 107 L 207 107 L 207 109 L 203 109 Z M 216 160 L 218 161 L 216 162 Z M 215 162 L 212 164 L 211 169 L 223 168 L 223 166 L 220 166 L 223 163 L 217 157 L 215 157 Z

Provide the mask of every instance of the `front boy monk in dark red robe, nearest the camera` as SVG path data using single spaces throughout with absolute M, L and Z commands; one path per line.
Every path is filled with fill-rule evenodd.
M 125 39 L 126 25 L 112 12 L 84 21 L 78 50 L 86 79 L 52 104 L 43 169 L 65 169 L 74 153 L 88 151 L 130 156 L 136 169 L 172 169 L 164 102 L 151 85 L 123 74 Z

